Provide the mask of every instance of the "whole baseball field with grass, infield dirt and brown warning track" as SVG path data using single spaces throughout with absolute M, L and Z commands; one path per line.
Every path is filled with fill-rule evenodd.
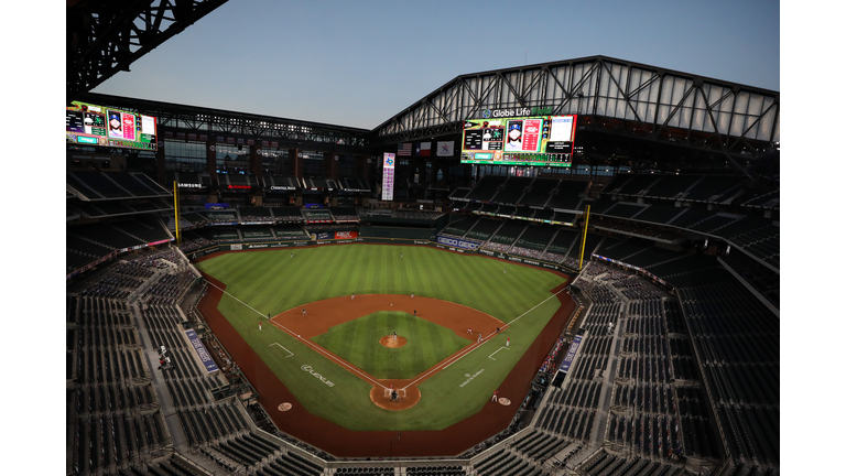
M 305 411 L 352 432 L 435 432 L 485 409 L 513 415 L 525 392 L 508 394 L 505 381 L 531 361 L 522 376 L 531 382 L 549 351 L 541 340 L 557 337 L 541 339 L 561 314 L 566 282 L 419 246 L 240 251 L 196 266 L 217 286 L 215 311 L 226 323 L 209 325 L 227 350 L 248 347 L 254 368 L 238 361 L 251 381 L 267 379 L 260 367 L 284 388 L 282 396 L 260 390 L 274 421 L 284 426 Z M 491 401 L 497 390 L 506 402 Z M 284 402 L 294 409 L 274 415 Z

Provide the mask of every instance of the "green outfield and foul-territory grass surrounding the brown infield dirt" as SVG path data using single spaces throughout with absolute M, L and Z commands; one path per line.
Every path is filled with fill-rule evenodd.
M 294 249 L 294 258 L 290 253 L 290 249 L 227 253 L 197 268 L 250 306 L 225 295 L 218 309 L 296 399 L 311 413 L 359 431 L 441 430 L 478 412 L 558 309 L 550 290 L 564 283 L 562 277 L 542 269 L 429 247 L 357 244 Z M 522 317 L 425 380 L 420 403 L 393 412 L 370 401 L 370 383 L 306 344 L 268 325 L 258 331 L 259 320 L 268 313 L 352 293 L 414 293 L 464 304 L 506 323 Z M 500 349 L 507 337 L 510 348 Z M 334 385 L 303 371 L 306 365 Z M 475 377 L 467 381 L 467 376 Z M 519 401 L 524 396 L 505 397 Z

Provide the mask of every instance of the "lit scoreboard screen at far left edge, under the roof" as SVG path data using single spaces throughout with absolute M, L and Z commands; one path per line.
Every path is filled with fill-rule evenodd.
M 73 101 L 65 108 L 65 141 L 154 151 L 155 122 L 152 116 Z

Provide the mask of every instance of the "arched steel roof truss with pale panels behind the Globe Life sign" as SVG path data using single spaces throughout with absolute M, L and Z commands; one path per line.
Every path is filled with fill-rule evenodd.
M 778 91 L 592 56 L 458 76 L 375 128 L 372 144 L 459 133 L 484 109 L 543 107 L 579 115 L 579 130 L 737 163 L 776 148 L 779 101 Z

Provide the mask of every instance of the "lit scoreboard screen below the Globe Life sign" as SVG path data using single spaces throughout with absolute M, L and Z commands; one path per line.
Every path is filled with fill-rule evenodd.
M 484 116 L 464 122 L 462 163 L 572 165 L 576 116 Z

